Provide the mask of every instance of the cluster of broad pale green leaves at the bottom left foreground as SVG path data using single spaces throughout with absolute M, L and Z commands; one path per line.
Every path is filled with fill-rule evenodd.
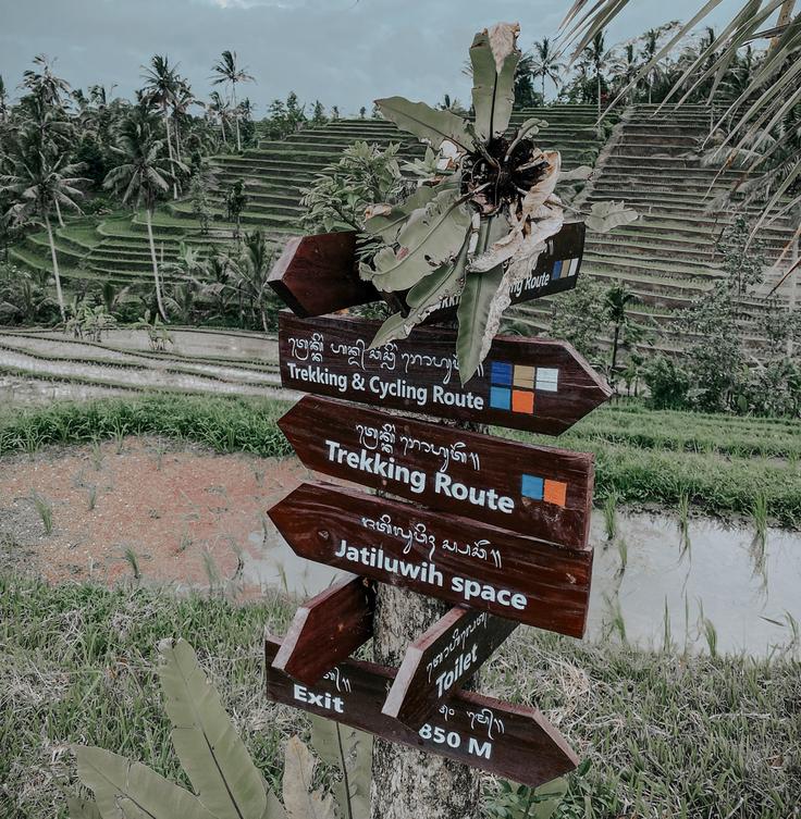
M 159 655 L 172 744 L 194 793 L 140 762 L 102 748 L 76 746 L 78 778 L 95 801 L 67 799 L 71 819 L 334 819 L 333 796 L 312 787 L 315 759 L 299 737 L 286 744 L 282 805 L 250 758 L 192 646 L 184 640 L 164 640 Z M 348 819 L 368 819 L 370 737 L 316 718 L 312 743 L 325 761 L 343 772 L 337 792 Z

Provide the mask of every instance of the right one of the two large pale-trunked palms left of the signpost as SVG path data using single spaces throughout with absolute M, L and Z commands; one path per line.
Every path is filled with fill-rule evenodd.
M 140 109 L 123 122 L 113 150 L 122 159 L 122 163 L 108 173 L 103 187 L 114 190 L 122 197 L 123 202 L 133 202 L 137 208 L 140 204 L 145 206 L 156 303 L 162 320 L 167 321 L 153 241 L 152 216 L 159 196 L 169 190 L 174 179 L 174 169 L 184 172 L 188 169 L 181 162 L 164 157 L 164 142 L 155 138 L 147 113 Z

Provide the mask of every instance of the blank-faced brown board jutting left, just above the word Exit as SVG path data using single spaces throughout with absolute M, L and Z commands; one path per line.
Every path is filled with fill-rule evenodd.
M 275 668 L 315 685 L 372 636 L 375 587 L 363 578 L 342 580 L 295 612 Z

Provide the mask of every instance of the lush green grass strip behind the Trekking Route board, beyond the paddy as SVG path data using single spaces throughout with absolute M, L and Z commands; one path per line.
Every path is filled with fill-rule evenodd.
M 58 404 L 0 414 L 0 455 L 132 434 L 165 435 L 218 451 L 289 455 L 275 424 L 287 405 L 269 399 L 158 395 Z M 604 407 L 559 438 L 495 430 L 595 455 L 595 499 L 752 517 L 801 526 L 801 435 L 782 419 Z

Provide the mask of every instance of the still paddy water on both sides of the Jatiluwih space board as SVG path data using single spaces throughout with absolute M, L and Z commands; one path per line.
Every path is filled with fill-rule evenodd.
M 625 629 L 625 638 L 643 648 L 662 649 L 667 638 L 674 650 L 708 652 L 713 641 L 719 654 L 801 656 L 800 532 L 768 528 L 762 542 L 748 526 L 691 518 L 682 537 L 671 517 L 618 512 L 609 541 L 595 511 L 591 539 L 587 638 L 620 641 Z M 296 557 L 278 533 L 264 544 L 264 533 L 254 532 L 250 542 L 249 584 L 303 598 L 344 575 Z

